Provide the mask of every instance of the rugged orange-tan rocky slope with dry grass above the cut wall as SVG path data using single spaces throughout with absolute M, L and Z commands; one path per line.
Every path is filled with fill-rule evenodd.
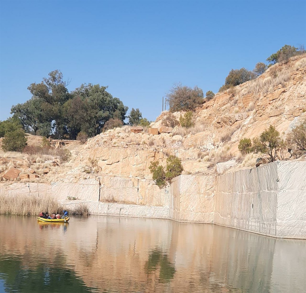
M 169 133 L 152 135 L 147 130 L 133 133 L 129 126 L 124 126 L 90 138 L 84 145 L 63 142 L 63 148 L 69 149 L 72 156 L 68 163 L 55 165 L 56 158 L 52 156 L 29 158 L 2 152 L 1 176 L 14 166 L 21 170 L 20 174 L 29 174 L 28 168 L 32 168 L 40 176 L 32 177 L 35 181 L 76 182 L 81 178 L 99 177 L 110 186 L 116 181 L 118 188 L 137 181 L 139 188 L 139 180 L 152 182 L 150 161 L 165 164 L 170 154 L 182 159 L 183 174 L 215 176 L 254 166 L 258 155 L 242 157 L 238 151 L 241 138 L 254 138 L 270 124 L 285 136 L 306 119 L 305 110 L 306 57 L 302 56 L 285 65 L 275 64 L 256 80 L 236 86 L 234 91 L 218 93 L 196 110 L 195 126 L 189 130 L 177 127 L 167 130 Z M 181 114 L 174 113 L 177 118 Z M 151 127 L 160 128 L 163 115 Z M 30 137 L 28 141 L 31 144 L 34 140 L 39 144 L 37 137 Z M 58 142 L 54 146 L 62 145 Z M 44 173 L 46 167 L 49 171 Z M 156 186 L 148 191 L 148 185 L 152 183 L 146 183 L 143 188 L 154 193 Z

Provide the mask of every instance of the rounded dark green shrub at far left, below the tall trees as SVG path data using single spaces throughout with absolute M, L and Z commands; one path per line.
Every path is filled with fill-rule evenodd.
M 26 145 L 27 138 L 21 129 L 6 132 L 2 140 L 2 148 L 6 152 L 21 152 Z

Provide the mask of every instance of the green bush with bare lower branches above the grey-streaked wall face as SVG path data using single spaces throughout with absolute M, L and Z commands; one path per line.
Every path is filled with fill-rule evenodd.
M 277 159 L 284 159 L 285 149 L 285 142 L 272 125 L 253 140 L 253 146 L 251 148 L 252 152 L 261 152 L 268 155 L 270 162 L 274 162 Z

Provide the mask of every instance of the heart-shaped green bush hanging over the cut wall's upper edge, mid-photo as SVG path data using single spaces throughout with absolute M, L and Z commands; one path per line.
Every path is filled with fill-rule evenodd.
M 169 156 L 167 158 L 166 172 L 162 166 L 159 165 L 158 161 L 153 161 L 149 167 L 152 173 L 152 179 L 159 188 L 164 188 L 172 182 L 172 179 L 181 175 L 183 166 L 181 159 L 175 156 Z

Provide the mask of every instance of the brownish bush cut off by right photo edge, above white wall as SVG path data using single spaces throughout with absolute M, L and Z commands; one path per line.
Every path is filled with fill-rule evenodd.
M 288 148 L 293 150 L 295 157 L 306 154 L 306 121 L 295 127 L 287 136 Z

